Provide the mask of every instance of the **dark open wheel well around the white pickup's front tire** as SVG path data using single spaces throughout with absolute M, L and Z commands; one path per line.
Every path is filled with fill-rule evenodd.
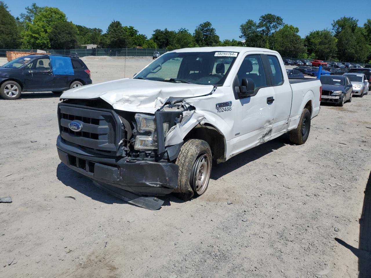
M 208 124 L 198 124 L 188 132 L 184 137 L 184 141 L 191 138 L 206 141 L 210 146 L 213 159 L 216 160 L 217 163 L 225 161 L 226 140 L 217 128 Z

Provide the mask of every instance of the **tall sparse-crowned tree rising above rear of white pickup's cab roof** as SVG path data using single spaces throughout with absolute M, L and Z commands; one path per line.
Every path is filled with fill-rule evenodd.
M 275 33 L 283 26 L 283 19 L 275 14 L 267 13 L 260 16 L 257 28 L 264 37 L 265 47 L 275 49 Z

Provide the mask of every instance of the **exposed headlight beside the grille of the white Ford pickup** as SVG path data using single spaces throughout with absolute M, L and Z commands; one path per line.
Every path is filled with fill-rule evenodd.
M 157 132 L 155 116 L 146 114 L 135 114 L 137 121 L 137 130 L 148 135 L 137 135 L 135 138 L 134 149 L 153 150 L 157 149 Z

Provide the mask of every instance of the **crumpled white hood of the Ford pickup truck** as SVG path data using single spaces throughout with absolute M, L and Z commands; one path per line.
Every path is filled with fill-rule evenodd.
M 65 91 L 61 99 L 101 99 L 114 109 L 154 113 L 169 97 L 191 97 L 210 93 L 213 85 L 170 83 L 143 79 L 119 79 Z

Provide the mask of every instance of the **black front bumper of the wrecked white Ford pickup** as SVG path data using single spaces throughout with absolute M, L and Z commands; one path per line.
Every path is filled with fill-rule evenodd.
M 60 160 L 69 168 L 93 179 L 108 191 L 115 187 L 122 190 L 122 195 L 128 191 L 135 195 L 164 196 L 178 185 L 179 168 L 174 163 L 128 162 L 127 158 L 92 155 L 78 146 L 69 145 L 60 136 L 57 150 Z

